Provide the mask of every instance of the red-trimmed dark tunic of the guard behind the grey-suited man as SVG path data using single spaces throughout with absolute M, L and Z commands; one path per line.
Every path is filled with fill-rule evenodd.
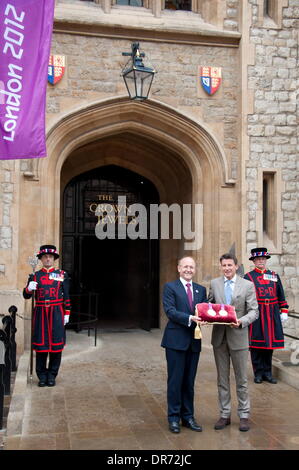
M 280 314 L 288 312 L 281 280 L 274 271 L 255 268 L 244 279 L 254 283 L 260 315 L 249 325 L 249 346 L 258 349 L 284 348 Z

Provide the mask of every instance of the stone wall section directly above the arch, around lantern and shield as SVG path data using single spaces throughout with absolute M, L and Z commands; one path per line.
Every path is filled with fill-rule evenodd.
M 215 132 L 228 159 L 232 159 L 230 177 L 236 178 L 240 99 L 238 49 L 150 41 L 140 46 L 146 54 L 145 64 L 158 71 L 150 97 L 199 119 Z M 61 83 L 48 87 L 48 124 L 84 102 L 126 96 L 121 77 L 126 58 L 122 57 L 122 52 L 129 50 L 127 40 L 55 34 L 52 52 L 67 56 L 67 69 Z M 222 67 L 223 82 L 212 97 L 199 84 L 200 65 Z

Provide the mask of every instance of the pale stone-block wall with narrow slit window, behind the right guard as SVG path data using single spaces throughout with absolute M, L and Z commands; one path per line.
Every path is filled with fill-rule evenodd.
M 298 26 L 299 1 L 289 0 L 282 9 L 281 24 L 262 18 L 259 0 L 252 5 L 250 41 L 255 47 L 255 64 L 248 67 L 248 87 L 253 91 L 253 114 L 248 116 L 250 155 L 247 163 L 248 252 L 262 240 L 257 223 L 261 194 L 259 169 L 279 169 L 282 185 L 281 250 L 269 267 L 283 279 L 291 309 L 298 309 Z M 298 310 L 297 310 L 298 311 Z M 289 320 L 292 334 L 293 320 Z M 290 330 L 291 332 L 291 330 Z

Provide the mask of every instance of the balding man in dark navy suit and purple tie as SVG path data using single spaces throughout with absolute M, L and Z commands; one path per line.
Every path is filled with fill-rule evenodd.
M 202 431 L 194 419 L 194 381 L 201 350 L 201 339 L 194 338 L 198 318 L 195 305 L 206 302 L 205 287 L 192 282 L 195 261 L 179 260 L 180 279 L 164 286 L 163 306 L 169 319 L 161 346 L 166 349 L 168 422 L 171 432 L 180 432 L 182 425 Z

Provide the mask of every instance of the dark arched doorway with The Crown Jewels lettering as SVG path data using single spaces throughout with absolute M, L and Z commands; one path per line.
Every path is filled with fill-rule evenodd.
M 127 208 L 136 203 L 148 209 L 159 203 L 158 192 L 147 178 L 117 165 L 84 172 L 64 190 L 62 266 L 74 294 L 98 294 L 101 328 L 159 326 L 159 241 L 120 239 L 117 233 L 130 222 Z M 95 236 L 97 207 L 108 214 L 115 239 Z

